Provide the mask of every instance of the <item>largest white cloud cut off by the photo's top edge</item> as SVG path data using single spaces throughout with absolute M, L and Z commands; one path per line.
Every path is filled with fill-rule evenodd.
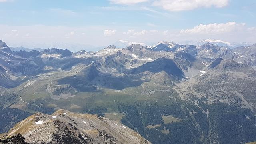
M 222 8 L 228 5 L 229 0 L 157 0 L 153 6 L 160 6 L 164 10 L 184 11 L 194 10 L 196 8 L 209 8 L 215 6 Z

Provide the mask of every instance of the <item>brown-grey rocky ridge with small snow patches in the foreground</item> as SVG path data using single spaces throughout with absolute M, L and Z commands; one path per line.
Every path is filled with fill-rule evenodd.
M 19 122 L 2 143 L 16 144 L 150 144 L 134 130 L 91 114 L 58 110 L 36 113 Z

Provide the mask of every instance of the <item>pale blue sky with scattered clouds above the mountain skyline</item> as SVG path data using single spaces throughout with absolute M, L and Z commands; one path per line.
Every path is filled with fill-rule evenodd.
M 0 0 L 0 40 L 8 46 L 208 38 L 256 43 L 256 1 Z

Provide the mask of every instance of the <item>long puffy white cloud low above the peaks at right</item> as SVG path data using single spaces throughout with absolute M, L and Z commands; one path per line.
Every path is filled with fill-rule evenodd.
M 200 24 L 191 29 L 181 30 L 181 34 L 222 34 L 231 32 L 244 26 L 244 23 L 237 24 L 236 22 Z

